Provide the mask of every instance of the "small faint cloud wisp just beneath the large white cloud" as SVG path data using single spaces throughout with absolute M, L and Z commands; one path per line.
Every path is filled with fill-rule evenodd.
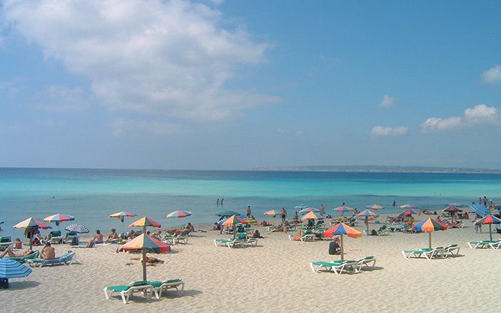
M 183 127 L 175 123 L 157 122 L 149 120 L 131 120 L 114 118 L 111 122 L 113 135 L 120 137 L 124 133 L 146 133 L 149 135 L 172 135 Z

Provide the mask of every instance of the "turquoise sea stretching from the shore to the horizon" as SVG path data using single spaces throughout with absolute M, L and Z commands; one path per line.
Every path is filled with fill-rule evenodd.
M 447 205 L 468 205 L 487 196 L 501 200 L 501 174 L 472 173 L 338 173 L 250 170 L 114 170 L 60 168 L 0 168 L 0 225 L 2 236 L 21 237 L 12 227 L 21 220 L 63 213 L 76 218 L 91 232 L 126 230 L 125 223 L 108 218 L 118 211 L 151 217 L 162 227 L 191 222 L 211 224 L 216 213 L 235 210 L 262 220 L 263 212 L 285 207 L 289 215 L 297 205 L 324 205 L 332 215 L 345 203 L 363 210 L 383 205 L 383 213 L 401 212 L 410 203 L 427 210 Z M 224 199 L 223 205 L 217 200 Z M 393 202 L 396 205 L 393 205 Z M 182 219 L 167 219 L 174 210 L 193 212 Z

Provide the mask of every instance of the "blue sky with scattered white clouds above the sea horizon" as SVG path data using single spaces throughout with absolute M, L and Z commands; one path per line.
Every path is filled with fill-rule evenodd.
M 0 1 L 0 167 L 501 168 L 499 1 Z

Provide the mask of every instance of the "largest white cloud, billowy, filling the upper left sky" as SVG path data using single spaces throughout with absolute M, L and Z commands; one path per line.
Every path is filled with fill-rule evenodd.
M 236 68 L 263 62 L 267 43 L 190 1 L 14 1 L 2 18 L 46 58 L 91 81 L 112 111 L 217 120 L 280 101 L 228 88 Z

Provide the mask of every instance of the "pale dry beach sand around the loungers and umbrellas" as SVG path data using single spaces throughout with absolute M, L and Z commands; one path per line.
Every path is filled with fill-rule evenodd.
M 423 217 L 417 217 L 417 220 Z M 358 230 L 363 230 L 360 223 Z M 488 227 L 483 227 L 484 232 Z M 218 232 L 196 232 L 188 245 L 155 255 L 166 263 L 148 267 L 148 279 L 181 277 L 186 292 L 168 292 L 146 301 L 142 295 L 124 305 L 103 297 L 103 287 L 141 279 L 141 263 L 117 245 L 77 248 L 71 266 L 34 269 L 0 290 L 0 312 L 499 312 L 497 291 L 501 250 L 472 250 L 466 242 L 486 240 L 471 222 L 464 229 L 433 232 L 432 244 L 460 244 L 460 257 L 405 260 L 402 250 L 427 246 L 427 235 L 391 233 L 345 239 L 345 258 L 375 255 L 375 270 L 358 274 L 314 273 L 309 263 L 333 260 L 328 243 L 293 242 L 285 233 L 267 234 L 258 247 L 215 247 Z M 494 235 L 495 238 L 500 235 Z M 56 245 L 58 255 L 69 250 Z M 133 262 L 133 265 L 126 265 Z M 41 312 L 49 312 L 44 309 Z

